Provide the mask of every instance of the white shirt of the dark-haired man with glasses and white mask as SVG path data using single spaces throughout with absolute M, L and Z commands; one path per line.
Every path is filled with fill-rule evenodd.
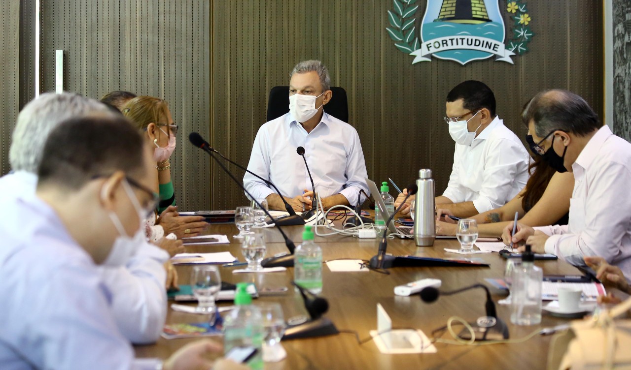
M 517 135 L 495 116 L 470 146 L 456 144 L 442 195 L 454 203 L 473 201 L 478 213 L 499 208 L 526 186 L 529 162 Z

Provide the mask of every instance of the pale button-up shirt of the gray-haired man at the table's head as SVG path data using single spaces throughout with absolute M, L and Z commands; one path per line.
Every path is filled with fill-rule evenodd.
M 327 113 L 310 133 L 290 113 L 262 125 L 254 139 L 247 169 L 271 181 L 286 198 L 301 195 L 304 189 L 311 189 L 311 182 L 297 147 L 305 149 L 315 192 L 322 198 L 339 193 L 348 203 L 356 205 L 361 189 L 370 194 L 357 130 Z M 243 182 L 255 198 L 276 193 L 247 172 Z

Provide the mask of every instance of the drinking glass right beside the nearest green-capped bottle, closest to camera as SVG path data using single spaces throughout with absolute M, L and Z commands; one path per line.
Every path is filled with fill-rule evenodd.
M 257 308 L 261 310 L 265 335 L 263 339 L 263 360 L 266 362 L 280 361 L 284 357 L 281 354 L 285 352 L 280 344 L 280 340 L 285 334 L 283 308 L 281 308 L 279 303 L 263 303 L 257 305 Z

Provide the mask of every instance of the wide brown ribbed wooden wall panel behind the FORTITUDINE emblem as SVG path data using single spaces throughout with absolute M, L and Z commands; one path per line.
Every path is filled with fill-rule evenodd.
M 425 3 L 417 2 L 417 30 Z M 504 7 L 500 1 L 507 19 Z M 536 36 L 514 65 L 493 58 L 464 66 L 438 59 L 413 65 L 386 33 L 392 1 L 215 1 L 213 145 L 247 164 L 269 89 L 288 84 L 300 60 L 320 59 L 333 86 L 348 93 L 350 123 L 362 140 L 369 177 L 392 177 L 405 186 L 419 168 L 429 167 L 440 194 L 454 149 L 442 120 L 445 96 L 459 82 L 486 82 L 498 115 L 520 138 L 526 135 L 521 107 L 541 89 L 570 89 L 603 111 L 601 6 L 591 0 L 528 1 L 528 8 Z M 219 169 L 213 178 L 215 208 L 245 203 Z

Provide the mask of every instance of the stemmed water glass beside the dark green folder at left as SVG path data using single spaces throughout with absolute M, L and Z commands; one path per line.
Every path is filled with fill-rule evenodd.
M 215 324 L 217 307 L 215 299 L 221 289 L 221 275 L 216 266 L 193 266 L 191 272 L 191 288 L 198 300 L 196 311 L 210 315 L 210 325 Z

